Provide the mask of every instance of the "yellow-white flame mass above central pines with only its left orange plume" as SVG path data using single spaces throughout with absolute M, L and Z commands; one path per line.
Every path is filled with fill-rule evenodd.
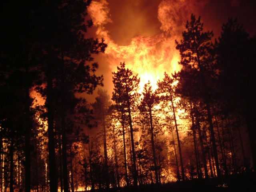
M 178 65 L 180 55 L 175 49 L 174 42 L 174 39 L 178 38 L 177 35 L 171 36 L 162 32 L 150 37 L 137 36 L 132 38 L 128 45 L 118 45 L 104 27 L 112 22 L 108 17 L 110 12 L 108 2 L 106 0 L 92 1 L 88 12 L 94 26 L 97 27 L 96 35 L 100 38 L 103 37 L 108 44 L 105 53 L 108 63 L 110 63 L 110 70 L 116 71 L 116 66 L 124 61 L 126 67 L 140 77 L 140 92 L 148 81 L 151 82 L 153 90 L 156 90 L 157 81 L 164 77 L 164 72 L 170 74 L 180 70 Z

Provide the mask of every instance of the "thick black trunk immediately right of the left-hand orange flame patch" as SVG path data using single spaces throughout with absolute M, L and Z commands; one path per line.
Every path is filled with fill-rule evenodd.
M 56 174 L 55 162 L 55 142 L 54 142 L 54 108 L 53 108 L 53 88 L 52 88 L 52 74 L 50 65 L 48 66 L 47 76 L 47 118 L 48 118 L 48 150 L 49 150 L 49 177 L 50 177 L 50 192 L 58 191 L 58 180 Z M 30 192 L 27 191 L 27 192 Z

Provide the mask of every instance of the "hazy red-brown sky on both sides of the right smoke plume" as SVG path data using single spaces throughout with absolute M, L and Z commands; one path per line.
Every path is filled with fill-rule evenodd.
M 184 0 L 186 1 L 186 0 Z M 255 8 L 253 0 L 187 0 L 204 6 L 193 8 L 191 13 L 201 16 L 207 30 L 219 35 L 221 25 L 228 18 L 238 18 L 251 35 L 256 34 Z M 137 35 L 151 36 L 160 33 L 158 6 L 162 0 L 108 0 L 112 23 L 106 25 L 112 39 L 126 45 Z M 172 0 L 171 2 L 175 2 Z M 189 6 L 189 5 L 188 5 Z M 188 7 L 189 10 L 189 7 Z M 191 13 L 187 15 L 190 16 Z M 185 18 L 186 20 L 189 18 Z

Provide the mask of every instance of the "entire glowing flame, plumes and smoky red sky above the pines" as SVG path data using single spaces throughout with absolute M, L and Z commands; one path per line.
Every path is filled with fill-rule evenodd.
M 213 29 L 218 35 L 228 18 L 227 12 L 242 11 L 239 5 L 239 0 L 123 0 L 121 5 L 119 0 L 93 0 L 88 12 L 96 27 L 96 37 L 103 37 L 108 44 L 98 58 L 105 88 L 112 93 L 111 72 L 123 61 L 139 74 L 141 89 L 148 80 L 156 88 L 164 71 L 170 74 L 180 70 L 180 55 L 174 41 L 181 38 L 191 14 L 202 16 L 204 29 Z

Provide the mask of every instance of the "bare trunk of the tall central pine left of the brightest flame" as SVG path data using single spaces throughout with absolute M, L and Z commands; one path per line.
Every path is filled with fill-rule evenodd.
M 135 154 L 135 147 L 134 147 L 130 101 L 128 101 L 128 115 L 129 115 L 130 135 L 131 135 L 131 144 L 132 144 L 133 185 L 138 186 L 138 172 L 137 172 L 137 168 L 136 168 L 136 154 Z

